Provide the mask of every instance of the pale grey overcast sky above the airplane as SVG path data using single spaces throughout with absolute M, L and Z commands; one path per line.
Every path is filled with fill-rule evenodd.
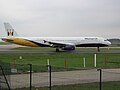
M 120 0 L 0 0 L 0 34 L 120 37 Z

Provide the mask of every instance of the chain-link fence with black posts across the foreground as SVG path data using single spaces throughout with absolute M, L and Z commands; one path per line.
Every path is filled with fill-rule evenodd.
M 76 69 L 3 62 L 0 65 L 11 90 L 120 89 L 120 69 Z M 0 90 L 9 90 L 7 82 L 1 69 Z

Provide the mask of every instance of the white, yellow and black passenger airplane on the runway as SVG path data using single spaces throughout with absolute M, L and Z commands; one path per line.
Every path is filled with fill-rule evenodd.
M 7 37 L 2 37 L 5 42 L 10 42 L 30 47 L 52 47 L 56 52 L 60 50 L 75 50 L 76 47 L 100 47 L 111 45 L 107 39 L 102 37 L 19 37 L 9 23 L 4 23 Z

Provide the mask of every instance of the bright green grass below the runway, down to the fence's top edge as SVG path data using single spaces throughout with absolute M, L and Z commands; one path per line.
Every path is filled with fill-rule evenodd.
M 23 59 L 19 59 L 22 56 Z M 56 67 L 64 67 L 65 60 L 68 68 L 83 68 L 83 58 L 86 58 L 86 68 L 94 68 L 92 53 L 54 53 L 54 54 L 0 54 L 0 61 L 16 64 L 46 65 L 47 59 Z M 120 53 L 98 53 L 97 68 L 119 68 Z

